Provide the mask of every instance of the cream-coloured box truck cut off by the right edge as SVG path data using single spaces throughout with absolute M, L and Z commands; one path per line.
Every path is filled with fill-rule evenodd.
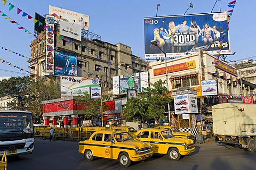
M 226 148 L 240 146 L 256 151 L 256 105 L 222 103 L 212 106 L 215 142 Z

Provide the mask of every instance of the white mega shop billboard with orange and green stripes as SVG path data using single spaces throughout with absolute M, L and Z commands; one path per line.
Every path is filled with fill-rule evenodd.
M 85 91 L 90 94 L 90 87 L 99 87 L 99 79 L 61 76 L 60 85 L 61 97 L 79 96 Z

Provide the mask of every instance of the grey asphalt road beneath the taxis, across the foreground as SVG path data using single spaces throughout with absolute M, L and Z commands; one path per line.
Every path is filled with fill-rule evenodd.
M 57 140 L 50 142 L 36 138 L 33 154 L 7 158 L 7 169 L 45 170 L 45 169 L 255 169 L 256 152 L 242 148 L 227 149 L 214 141 L 195 145 L 196 151 L 178 161 L 167 155 L 153 155 L 146 162 L 133 163 L 123 168 L 118 160 L 96 158 L 87 162 L 79 154 L 78 142 Z

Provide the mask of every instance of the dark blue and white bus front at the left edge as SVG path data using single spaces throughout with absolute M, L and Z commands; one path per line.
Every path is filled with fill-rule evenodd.
M 31 154 L 34 141 L 31 112 L 0 111 L 0 152 L 6 156 Z

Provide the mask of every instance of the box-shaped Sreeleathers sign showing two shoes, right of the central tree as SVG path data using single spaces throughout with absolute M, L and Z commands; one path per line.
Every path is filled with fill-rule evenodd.
M 183 94 L 174 96 L 175 114 L 198 113 L 196 95 Z

